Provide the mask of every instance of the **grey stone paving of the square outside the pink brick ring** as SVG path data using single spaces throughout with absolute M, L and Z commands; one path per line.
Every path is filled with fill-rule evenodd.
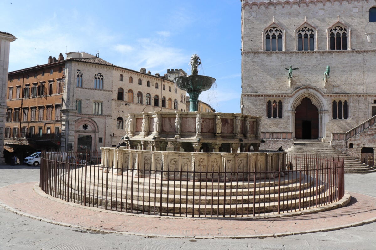
M 22 185 L 12 185 L 13 187 L 18 187 L 18 190 L 22 190 L 23 187 L 27 190 L 26 187 L 30 186 L 30 182 L 35 183 L 35 181 L 39 180 L 39 168 L 34 167 L 5 165 L 0 166 L 0 173 L 2 177 L 0 186 L 24 183 Z M 346 175 L 345 181 L 346 190 L 353 192 L 353 195 L 359 200 L 365 199 L 366 202 L 368 201 L 363 205 L 370 207 L 376 205 L 374 204 L 374 198 L 376 198 L 376 193 L 374 192 L 376 173 Z M 19 196 L 26 195 L 26 191 L 22 194 L 17 194 L 15 189 L 8 190 L 8 193 Z M 365 195 L 373 198 L 367 198 Z M 36 207 L 38 207 L 38 204 Z M 47 210 L 46 208 L 44 209 Z M 54 211 L 54 209 L 52 208 L 51 211 Z M 58 214 L 58 211 L 55 211 L 55 213 Z M 81 216 L 85 217 L 84 214 L 81 214 Z M 315 216 L 317 217 L 317 214 Z M 64 219 L 59 214 L 58 217 Z M 317 219 L 319 218 L 312 218 L 307 221 L 311 223 Z M 328 219 L 330 218 L 328 217 Z M 170 219 L 159 220 L 163 220 L 165 227 L 168 228 L 167 222 L 170 222 Z M 124 219 L 122 223 L 126 225 L 127 221 L 127 219 Z M 183 224 L 184 220 L 180 221 Z M 219 221 L 218 223 L 221 224 L 223 222 Z M 323 223 L 323 228 L 327 228 L 327 224 Z M 200 224 L 200 227 L 203 226 L 203 224 Z M 233 227 L 236 230 L 237 223 L 233 223 Z M 290 225 L 290 228 L 291 231 L 298 231 L 294 225 Z M 375 235 L 376 223 L 337 231 L 288 235 L 277 238 L 221 240 L 100 234 L 79 228 L 53 225 L 0 209 L 0 249 L 375 249 Z

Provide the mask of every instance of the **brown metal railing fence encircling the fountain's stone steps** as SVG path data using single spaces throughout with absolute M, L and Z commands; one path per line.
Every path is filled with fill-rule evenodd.
M 41 189 L 90 207 L 185 217 L 282 214 L 321 207 L 344 196 L 341 158 L 290 154 L 287 166 L 278 171 L 238 172 L 195 171 L 194 163 L 192 171 L 112 168 L 90 160 L 98 158 L 88 153 L 82 161 L 73 153 L 43 152 Z

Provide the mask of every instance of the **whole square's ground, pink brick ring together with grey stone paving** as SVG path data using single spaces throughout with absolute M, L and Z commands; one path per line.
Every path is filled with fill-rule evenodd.
M 39 177 L 37 168 L 0 166 L 0 173 L 3 177 L 0 186 L 19 183 L 0 189 L 2 203 L 39 216 L 33 219 L 47 219 L 32 220 L 0 209 L 0 249 L 374 249 L 376 245 L 376 223 L 351 227 L 376 219 L 376 174 L 346 175 L 346 190 L 354 198 L 344 208 L 267 220 L 218 220 L 166 219 L 88 210 L 38 195 L 33 190 Z M 46 223 L 48 220 L 73 227 Z M 98 234 L 86 229 L 93 226 L 138 235 Z M 350 228 L 326 231 L 343 226 Z M 277 238 L 209 239 L 307 231 L 324 232 Z M 205 237 L 209 238 L 201 239 Z

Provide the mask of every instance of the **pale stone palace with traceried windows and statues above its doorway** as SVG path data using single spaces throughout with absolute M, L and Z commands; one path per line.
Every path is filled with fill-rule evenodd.
M 241 0 L 244 114 L 264 148 L 331 141 L 376 115 L 375 1 Z

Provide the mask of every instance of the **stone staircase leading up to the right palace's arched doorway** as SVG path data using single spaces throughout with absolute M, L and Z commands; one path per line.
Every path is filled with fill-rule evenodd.
M 296 154 L 318 154 L 319 156 L 343 157 L 345 164 L 345 174 L 365 174 L 376 172 L 371 166 L 362 163 L 354 157 L 348 156 L 340 150 L 331 147 L 330 142 L 320 142 L 315 140 L 296 140 L 287 153 Z

